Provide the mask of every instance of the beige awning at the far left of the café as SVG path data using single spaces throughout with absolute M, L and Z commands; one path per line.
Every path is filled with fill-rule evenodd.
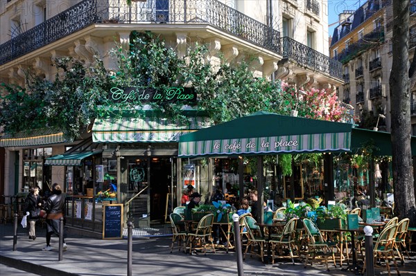
M 5 134 L 0 139 L 0 147 L 28 147 L 50 145 L 65 142 L 62 131 L 56 129 L 36 129 L 21 131 L 17 134 Z

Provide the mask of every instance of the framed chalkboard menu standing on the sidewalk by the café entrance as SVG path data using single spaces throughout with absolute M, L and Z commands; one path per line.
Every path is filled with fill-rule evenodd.
M 103 205 L 103 239 L 123 238 L 123 204 Z

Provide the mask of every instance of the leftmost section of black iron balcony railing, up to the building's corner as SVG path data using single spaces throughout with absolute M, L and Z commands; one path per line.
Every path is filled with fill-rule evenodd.
M 0 65 L 81 30 L 97 19 L 95 1 L 82 1 L 0 45 Z

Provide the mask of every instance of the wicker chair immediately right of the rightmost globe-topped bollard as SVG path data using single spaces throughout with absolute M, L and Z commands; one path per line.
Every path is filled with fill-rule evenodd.
M 374 264 L 376 264 L 376 259 L 384 259 L 385 268 L 388 270 L 388 275 L 390 276 L 390 266 L 389 266 L 389 259 L 393 260 L 395 264 L 397 275 L 400 275 L 399 268 L 397 268 L 397 262 L 395 258 L 395 239 L 397 234 L 397 224 L 390 225 L 385 227 L 377 239 L 376 244 L 374 246 Z M 365 273 L 365 261 L 364 261 L 364 268 L 363 273 Z

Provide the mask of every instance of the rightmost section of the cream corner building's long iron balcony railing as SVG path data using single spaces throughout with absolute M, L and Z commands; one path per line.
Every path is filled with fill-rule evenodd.
M 343 64 L 336 59 L 319 53 L 290 37 L 281 38 L 282 55 L 284 58 L 292 59 L 295 62 L 309 66 L 316 71 L 327 73 L 338 79 L 343 79 Z

